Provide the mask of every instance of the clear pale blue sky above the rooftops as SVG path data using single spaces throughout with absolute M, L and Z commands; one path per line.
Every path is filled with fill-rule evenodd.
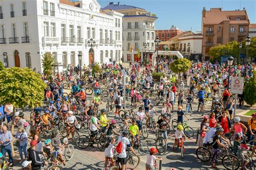
M 102 7 L 108 2 L 120 2 L 124 5 L 138 6 L 155 13 L 157 30 L 170 29 L 172 25 L 180 30 L 201 31 L 201 11 L 205 6 L 210 8 L 220 8 L 223 10 L 236 10 L 245 7 L 251 23 L 256 23 L 256 1 L 255 0 L 98 0 Z

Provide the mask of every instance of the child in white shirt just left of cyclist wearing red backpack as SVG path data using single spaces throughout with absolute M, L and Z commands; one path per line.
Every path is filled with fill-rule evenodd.
M 105 145 L 105 166 L 107 164 L 107 161 L 111 160 L 111 165 L 110 166 L 113 166 L 114 164 L 114 160 L 113 160 L 113 157 L 114 157 L 114 148 L 116 148 L 114 146 L 114 138 L 112 137 L 109 137 L 107 138 L 107 143 Z

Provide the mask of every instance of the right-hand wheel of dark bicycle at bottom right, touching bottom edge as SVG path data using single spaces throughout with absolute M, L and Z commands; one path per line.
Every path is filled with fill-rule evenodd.
M 225 155 L 221 162 L 226 169 L 239 169 L 240 167 L 239 159 L 232 154 Z

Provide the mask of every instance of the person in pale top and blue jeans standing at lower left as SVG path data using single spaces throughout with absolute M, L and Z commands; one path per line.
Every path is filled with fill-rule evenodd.
M 18 145 L 19 150 L 19 157 L 21 157 L 21 161 L 19 161 L 19 164 L 22 163 L 23 160 L 26 159 L 27 153 L 26 153 L 26 146 L 28 145 L 26 143 L 26 140 L 28 139 L 28 134 L 26 133 L 23 126 L 18 126 L 18 131 L 16 133 L 15 139 L 17 140 L 16 143 Z M 23 153 L 25 155 L 25 158 L 23 159 Z

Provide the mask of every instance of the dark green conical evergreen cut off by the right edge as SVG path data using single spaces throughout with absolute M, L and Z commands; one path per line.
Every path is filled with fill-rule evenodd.
M 253 76 L 245 84 L 245 102 L 251 107 L 256 103 L 256 71 L 253 72 Z

